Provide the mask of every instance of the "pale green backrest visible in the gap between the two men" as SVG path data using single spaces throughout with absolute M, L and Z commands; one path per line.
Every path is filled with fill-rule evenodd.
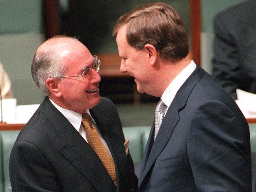
M 125 139 L 129 139 L 129 150 L 134 162 L 142 160 L 150 126 L 123 127 Z

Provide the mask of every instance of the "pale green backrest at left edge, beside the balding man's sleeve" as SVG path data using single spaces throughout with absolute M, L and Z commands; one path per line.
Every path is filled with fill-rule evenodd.
M 11 149 L 20 131 L 0 131 L 1 141 L 1 172 L 2 191 L 11 192 L 11 183 L 9 178 L 9 159 Z M 18 170 L 17 170 L 18 171 Z

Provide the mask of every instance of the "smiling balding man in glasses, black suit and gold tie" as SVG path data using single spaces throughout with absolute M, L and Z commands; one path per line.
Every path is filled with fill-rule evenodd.
M 99 68 L 100 60 L 71 37 L 39 46 L 31 71 L 46 98 L 11 151 L 13 192 L 137 189 L 117 110 L 99 95 Z

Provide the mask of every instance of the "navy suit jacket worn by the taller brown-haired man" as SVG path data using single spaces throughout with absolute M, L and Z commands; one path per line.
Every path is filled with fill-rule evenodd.
M 236 103 L 198 67 L 178 90 L 139 174 L 141 192 L 250 192 L 249 127 Z

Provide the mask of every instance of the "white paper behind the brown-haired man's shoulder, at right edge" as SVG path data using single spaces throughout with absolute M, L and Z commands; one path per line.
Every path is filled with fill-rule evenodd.
M 256 94 L 236 89 L 236 103 L 246 118 L 256 118 Z

